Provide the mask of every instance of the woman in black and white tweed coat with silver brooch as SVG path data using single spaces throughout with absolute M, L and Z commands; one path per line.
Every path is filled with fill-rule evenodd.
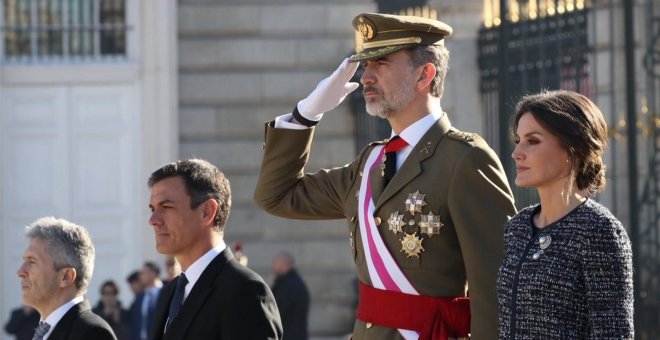
M 542 92 L 516 107 L 516 185 L 541 203 L 505 226 L 500 339 L 633 337 L 632 250 L 591 197 L 605 186 L 607 124 L 585 96 Z

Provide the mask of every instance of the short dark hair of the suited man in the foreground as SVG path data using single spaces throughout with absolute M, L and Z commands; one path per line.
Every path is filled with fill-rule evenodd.
M 169 177 L 183 179 L 191 209 L 214 199 L 218 203 L 215 227 L 218 231 L 224 230 L 231 210 L 231 187 L 220 169 L 203 159 L 178 160 L 154 171 L 149 177 L 149 188 Z

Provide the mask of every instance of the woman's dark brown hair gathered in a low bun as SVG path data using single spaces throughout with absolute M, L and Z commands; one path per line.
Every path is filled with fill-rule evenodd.
M 527 112 L 568 152 L 578 189 L 587 196 L 601 192 L 606 184 L 602 155 L 607 148 L 607 123 L 596 104 L 573 91 L 527 95 L 516 105 L 514 135 L 520 117 Z

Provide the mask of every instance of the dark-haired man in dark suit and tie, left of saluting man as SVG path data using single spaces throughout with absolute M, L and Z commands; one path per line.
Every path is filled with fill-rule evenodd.
M 270 288 L 223 241 L 231 207 L 224 174 L 204 160 L 181 160 L 156 170 L 148 184 L 156 249 L 174 255 L 182 270 L 161 292 L 151 339 L 280 339 Z

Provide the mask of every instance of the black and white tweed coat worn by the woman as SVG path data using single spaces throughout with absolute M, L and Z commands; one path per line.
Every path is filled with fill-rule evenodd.
M 612 213 L 588 199 L 543 229 L 528 207 L 505 225 L 497 279 L 500 339 L 632 338 L 632 249 Z M 540 250 L 539 238 L 550 236 Z

